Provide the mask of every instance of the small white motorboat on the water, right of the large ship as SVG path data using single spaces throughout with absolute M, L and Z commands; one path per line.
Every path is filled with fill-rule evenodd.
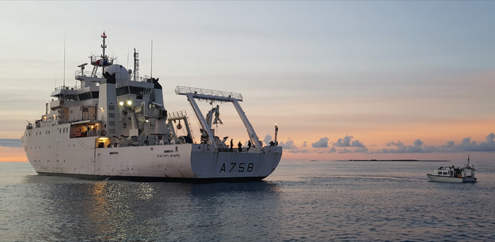
M 474 183 L 476 178 L 474 177 L 474 165 L 470 165 L 469 155 L 467 156 L 467 164 L 462 168 L 452 167 L 440 167 L 434 169 L 432 174 L 426 174 L 431 181 L 437 182 L 450 182 L 450 183 Z

